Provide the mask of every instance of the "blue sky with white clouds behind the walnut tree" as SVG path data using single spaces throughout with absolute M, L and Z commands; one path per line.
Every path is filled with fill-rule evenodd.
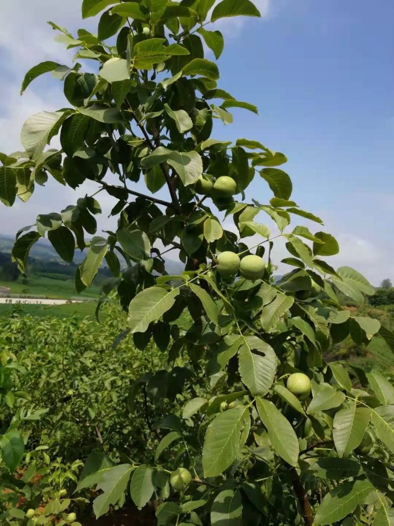
M 253 138 L 283 151 L 293 198 L 322 217 L 325 230 L 340 242 L 340 254 L 329 262 L 359 269 L 374 285 L 385 277 L 394 281 L 394 3 L 257 4 L 262 19 L 223 19 L 216 26 L 226 37 L 220 86 L 257 105 L 260 116 L 235 109 L 234 124 L 217 125 L 213 136 Z M 79 0 L 15 0 L 2 7 L 1 151 L 19 148 L 19 129 L 27 116 L 64 105 L 61 85 L 50 76 L 37 80 L 22 98 L 19 86 L 24 72 L 41 60 L 69 62 L 69 54 L 53 44 L 54 33 L 45 22 L 80 27 L 79 5 Z M 83 24 L 91 23 L 95 21 Z M 7 210 L 0 205 L 0 232 L 13 234 L 32 224 L 37 211 L 75 203 L 80 193 L 49 184 L 46 190 L 38 188 L 27 204 Z M 255 178 L 247 197 L 267 201 L 271 195 L 264 181 Z M 110 201 L 103 206 L 110 209 Z M 102 226 L 108 226 L 105 217 Z M 279 244 L 277 260 L 284 257 L 282 248 Z

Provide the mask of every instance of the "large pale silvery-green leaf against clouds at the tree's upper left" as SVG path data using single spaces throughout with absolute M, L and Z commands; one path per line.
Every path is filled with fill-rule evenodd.
M 70 112 L 40 112 L 29 117 L 22 127 L 20 142 L 31 159 L 39 157 L 60 124 Z

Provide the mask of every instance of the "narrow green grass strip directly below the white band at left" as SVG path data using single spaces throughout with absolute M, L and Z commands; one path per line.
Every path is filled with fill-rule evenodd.
M 85 318 L 95 316 L 96 302 L 66 303 L 64 305 L 0 305 L 0 316 L 10 316 L 13 312 L 29 316 L 53 316 L 57 318 Z

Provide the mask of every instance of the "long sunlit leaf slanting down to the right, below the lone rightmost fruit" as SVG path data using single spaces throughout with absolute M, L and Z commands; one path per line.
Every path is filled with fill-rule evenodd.
M 256 407 L 276 453 L 291 466 L 297 466 L 299 445 L 291 423 L 269 400 L 256 398 Z

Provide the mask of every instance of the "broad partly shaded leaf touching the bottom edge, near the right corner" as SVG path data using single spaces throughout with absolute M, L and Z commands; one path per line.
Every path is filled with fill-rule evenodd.
M 344 482 L 331 490 L 317 508 L 314 524 L 333 524 L 354 511 L 374 489 L 369 480 Z

